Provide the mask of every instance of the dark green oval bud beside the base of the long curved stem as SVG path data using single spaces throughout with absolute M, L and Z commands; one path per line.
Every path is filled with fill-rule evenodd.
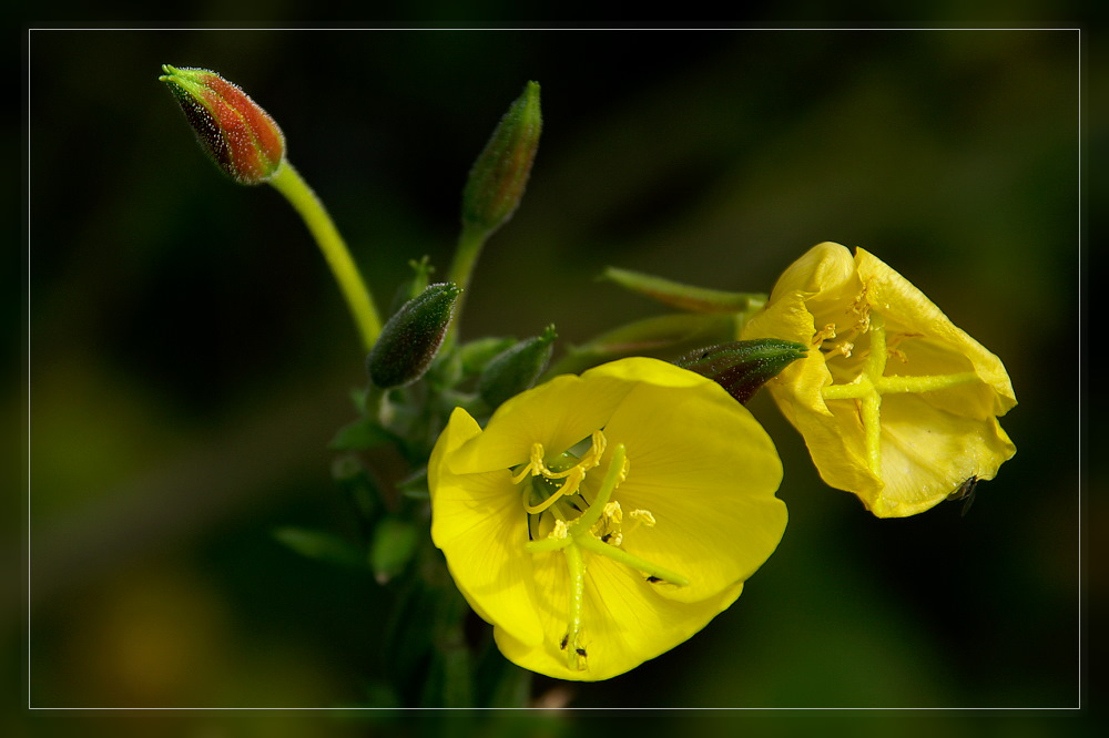
M 369 351 L 366 370 L 370 381 L 389 389 L 423 377 L 447 335 L 461 291 L 457 285 L 440 281 L 405 303 Z

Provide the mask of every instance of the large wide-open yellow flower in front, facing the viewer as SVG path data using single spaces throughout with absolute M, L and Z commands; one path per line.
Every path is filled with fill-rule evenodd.
M 785 530 L 781 481 L 720 386 L 623 359 L 516 396 L 485 430 L 456 409 L 428 465 L 431 537 L 507 658 L 607 679 L 739 597 Z

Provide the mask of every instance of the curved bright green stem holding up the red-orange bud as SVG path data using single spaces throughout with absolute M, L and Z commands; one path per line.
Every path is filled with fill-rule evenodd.
M 304 218 L 305 225 L 312 232 L 313 238 L 324 253 L 339 289 L 346 299 L 350 315 L 354 317 L 358 331 L 362 334 L 363 348 L 367 351 L 374 347 L 378 334 L 381 332 L 381 319 L 374 307 L 374 299 L 358 273 L 358 267 L 347 250 L 343 236 L 327 214 L 316 193 L 307 185 L 287 161 L 269 178 L 269 184 L 285 196 L 285 199 L 296 208 Z

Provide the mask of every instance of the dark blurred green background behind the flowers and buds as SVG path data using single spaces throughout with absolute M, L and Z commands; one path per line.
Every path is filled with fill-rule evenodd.
M 30 545 L 6 557 L 3 647 L 20 667 L 4 694 L 16 707 L 27 688 L 34 707 L 349 707 L 384 668 L 386 593 L 272 535 L 352 531 L 326 445 L 355 417 L 356 332 L 286 203 L 202 155 L 157 81 L 170 63 L 217 70 L 278 121 L 383 307 L 408 259 L 446 271 L 466 173 L 536 80 L 536 167 L 482 256 L 464 336 L 554 322 L 564 349 L 664 312 L 598 283 L 606 265 L 769 291 L 836 240 L 1005 361 L 1017 455 L 965 517 L 959 504 L 872 517 L 821 483 L 756 398 L 785 464 L 777 553 L 683 646 L 606 683 L 538 680 L 537 697 L 1076 706 L 1080 571 L 1083 605 L 1106 585 L 1079 549 L 1079 503 L 1086 521 L 1106 504 L 1089 481 L 1079 496 L 1078 51 L 1075 31 L 32 31 L 29 516 L 6 523 Z M 1083 48 L 1086 63 L 1102 54 Z M 1083 84 L 1106 99 L 1105 79 Z M 1083 114 L 1088 152 L 1105 139 L 1095 104 Z M 27 394 L 12 379 L 16 414 Z M 24 434 L 4 444 L 12 469 Z M 327 715 L 314 735 L 384 719 Z M 210 719 L 98 725 L 299 735 L 299 717 L 247 714 L 233 734 Z M 934 714 L 915 730 L 980 735 L 969 720 Z

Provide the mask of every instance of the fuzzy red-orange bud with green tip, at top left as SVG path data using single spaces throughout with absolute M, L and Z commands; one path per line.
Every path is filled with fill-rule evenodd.
M 215 72 L 170 66 L 157 78 L 173 96 L 216 165 L 240 184 L 261 184 L 285 158 L 285 136 L 262 107 Z

